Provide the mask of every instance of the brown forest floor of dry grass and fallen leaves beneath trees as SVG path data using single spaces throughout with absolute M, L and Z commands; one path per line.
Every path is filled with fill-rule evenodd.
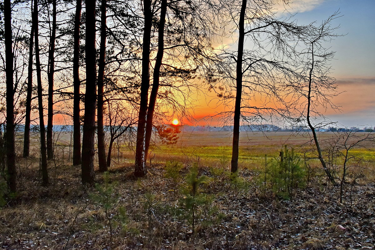
M 88 189 L 80 167 L 51 167 L 51 184 L 41 187 L 29 164 L 17 197 L 0 210 L 2 249 L 375 249 L 375 185 L 366 180 L 345 184 L 341 203 L 339 187 L 316 171 L 282 199 L 264 192 L 254 171 L 233 181 L 201 167 L 198 176 L 211 179 L 192 207 L 186 165 L 177 184 L 163 164 L 139 180 L 127 164 L 97 173 Z

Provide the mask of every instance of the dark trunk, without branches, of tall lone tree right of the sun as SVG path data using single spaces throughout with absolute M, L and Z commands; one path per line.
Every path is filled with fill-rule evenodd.
M 240 116 L 241 116 L 241 96 L 242 96 L 242 60 L 243 60 L 243 43 L 245 39 L 245 11 L 247 0 L 242 0 L 240 20 L 239 20 L 239 39 L 238 39 L 238 53 L 236 64 L 236 103 L 234 106 L 234 120 L 233 120 L 233 145 L 232 145 L 232 160 L 231 172 L 238 170 L 238 156 L 239 156 L 239 139 L 240 139 Z

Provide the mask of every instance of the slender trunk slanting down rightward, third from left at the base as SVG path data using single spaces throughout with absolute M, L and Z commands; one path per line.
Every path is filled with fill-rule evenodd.
M 40 158 L 42 168 L 42 185 L 48 186 L 48 172 L 47 172 L 47 148 L 46 148 L 46 134 L 44 127 L 43 115 L 43 97 L 42 97 L 42 70 L 40 69 L 39 58 L 39 34 L 38 34 L 38 1 L 34 0 L 34 31 L 35 31 L 35 60 L 36 60 L 36 78 L 38 91 L 38 109 L 39 109 L 39 127 L 40 127 Z

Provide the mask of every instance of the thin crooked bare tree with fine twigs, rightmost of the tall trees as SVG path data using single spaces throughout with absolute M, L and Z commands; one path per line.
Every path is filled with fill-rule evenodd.
M 326 120 L 318 111 L 319 106 L 323 106 L 324 108 L 338 108 L 332 103 L 332 97 L 336 96 L 338 93 L 335 78 L 330 76 L 329 66 L 329 61 L 332 60 L 335 52 L 327 51 L 322 45 L 323 42 L 330 41 L 338 36 L 338 34 L 334 33 L 337 27 L 331 26 L 332 21 L 339 17 L 338 15 L 338 12 L 334 13 L 326 21 L 323 21 L 320 27 L 314 28 L 316 31 L 314 35 L 306 37 L 304 42 L 307 48 L 301 53 L 301 59 L 305 61 L 305 64 L 301 64 L 305 65 L 305 67 L 302 68 L 302 75 L 304 74 L 303 72 L 308 72 L 308 77 L 307 79 L 305 77 L 302 78 L 301 85 L 296 85 L 297 93 L 302 94 L 302 96 L 307 99 L 306 121 L 312 131 L 321 165 L 332 183 L 335 183 L 335 179 L 323 158 L 316 133 L 316 128 L 326 126 L 327 122 L 320 121 L 319 124 L 315 125 L 313 124 L 313 120 Z M 297 97 L 297 100 L 299 99 L 300 97 Z M 305 112 L 302 111 L 302 113 Z

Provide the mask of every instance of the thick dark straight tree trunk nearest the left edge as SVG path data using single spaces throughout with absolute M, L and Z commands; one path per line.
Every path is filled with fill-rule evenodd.
M 14 90 L 13 90 L 13 51 L 12 15 L 10 0 L 4 1 L 5 72 L 6 72 L 6 165 L 7 185 L 11 193 L 17 191 L 16 154 L 14 142 Z

